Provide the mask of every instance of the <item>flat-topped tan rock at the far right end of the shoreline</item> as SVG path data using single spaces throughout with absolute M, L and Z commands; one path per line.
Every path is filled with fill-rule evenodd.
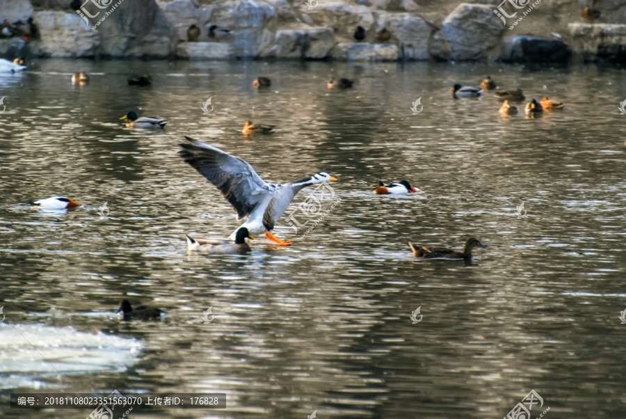
M 574 52 L 585 60 L 626 62 L 626 25 L 572 23 L 568 29 Z

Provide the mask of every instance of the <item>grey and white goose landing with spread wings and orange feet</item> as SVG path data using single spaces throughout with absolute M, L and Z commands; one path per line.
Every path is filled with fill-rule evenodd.
M 185 139 L 188 142 L 180 144 L 182 150 L 178 154 L 222 192 L 238 220 L 248 217 L 239 227 L 246 227 L 250 235 L 264 234 L 281 246 L 289 246 L 291 242 L 278 239 L 271 232 L 296 194 L 314 184 L 337 182 L 337 178 L 319 172 L 297 182 L 267 183 L 247 161 L 191 137 Z M 236 231 L 231 240 L 236 238 Z

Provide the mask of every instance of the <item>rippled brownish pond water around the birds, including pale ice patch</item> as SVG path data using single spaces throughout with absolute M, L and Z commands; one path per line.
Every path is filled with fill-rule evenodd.
M 93 74 L 87 86 L 70 85 L 79 70 Z M 152 87 L 127 86 L 144 72 Z M 326 89 L 333 74 L 355 88 Z M 490 94 L 451 99 L 452 84 L 486 74 L 565 110 L 503 120 Z M 502 418 L 534 389 L 547 417 L 623 418 L 625 74 L 45 61 L 1 77 L 0 381 L 13 384 L 0 386 L 0 413 L 84 418 L 85 409 L 10 411 L 6 397 L 115 388 L 227 393 L 225 410 L 135 417 Z M 271 89 L 252 88 L 258 75 Z M 418 97 L 424 110 L 412 115 Z M 169 124 L 127 129 L 119 118 L 131 109 Z M 246 140 L 246 119 L 278 131 Z M 246 159 L 268 181 L 334 175 L 330 212 L 304 237 L 283 218 L 274 232 L 288 248 L 259 237 L 249 255 L 188 253 L 184 234 L 225 238 L 239 224 L 177 156 L 184 135 Z M 375 196 L 381 179 L 424 193 Z M 83 206 L 31 209 L 54 195 Z M 468 237 L 488 245 L 469 264 L 415 260 L 407 244 L 461 248 Z M 122 297 L 168 317 L 120 323 Z M 38 365 L 47 361 L 56 373 Z

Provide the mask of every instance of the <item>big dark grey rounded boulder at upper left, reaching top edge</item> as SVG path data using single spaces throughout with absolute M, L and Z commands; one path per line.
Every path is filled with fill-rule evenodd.
M 124 0 L 112 11 L 97 8 L 93 2 L 86 8 L 95 15 L 91 22 L 102 36 L 103 56 L 167 58 L 175 54 L 178 33 L 154 0 Z

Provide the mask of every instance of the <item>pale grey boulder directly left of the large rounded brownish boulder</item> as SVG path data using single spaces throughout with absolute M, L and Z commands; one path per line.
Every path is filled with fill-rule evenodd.
M 428 40 L 433 29 L 422 18 L 411 13 L 376 12 L 377 29 L 387 28 L 392 32 L 393 42 L 398 45 L 400 58 L 428 60 Z

